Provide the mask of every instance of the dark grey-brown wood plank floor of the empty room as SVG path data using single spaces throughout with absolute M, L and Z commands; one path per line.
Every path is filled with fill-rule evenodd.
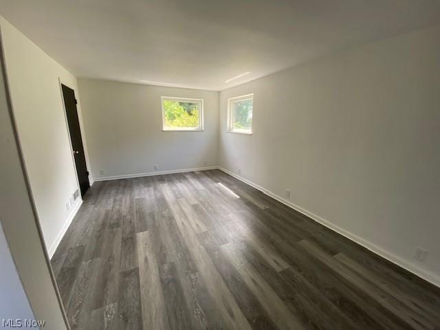
M 52 259 L 72 329 L 440 329 L 440 289 L 219 170 L 96 182 Z

